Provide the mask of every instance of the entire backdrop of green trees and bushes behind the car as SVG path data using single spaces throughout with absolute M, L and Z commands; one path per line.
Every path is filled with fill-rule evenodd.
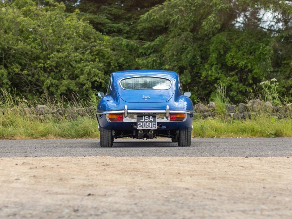
M 222 82 L 233 103 L 276 78 L 292 96 L 292 4 L 275 0 L 12 0 L 0 3 L 0 88 L 83 99 L 127 69 L 177 71 L 193 101 Z

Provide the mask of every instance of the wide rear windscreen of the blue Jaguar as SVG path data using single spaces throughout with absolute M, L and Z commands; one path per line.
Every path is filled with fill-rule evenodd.
M 125 78 L 120 81 L 120 85 L 123 89 L 156 89 L 166 90 L 170 88 L 171 82 L 165 78 L 154 77 L 137 77 L 137 78 Z

